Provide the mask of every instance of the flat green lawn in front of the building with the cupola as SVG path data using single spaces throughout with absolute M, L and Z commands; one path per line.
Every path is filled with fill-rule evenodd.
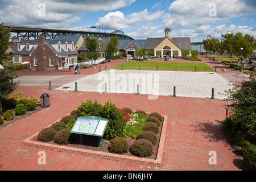
M 156 70 L 156 66 L 158 65 L 158 70 L 176 70 L 177 71 L 214 71 L 214 69 L 210 68 L 205 63 L 178 63 L 178 62 L 140 62 L 140 61 L 133 61 L 133 62 L 125 62 L 119 65 L 116 65 L 110 69 L 139 69 L 139 65 L 141 66 L 141 70 L 144 69 L 151 69 Z

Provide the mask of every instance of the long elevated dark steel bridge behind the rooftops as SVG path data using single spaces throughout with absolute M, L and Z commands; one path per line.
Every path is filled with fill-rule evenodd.
M 17 37 L 23 37 L 26 40 L 39 39 L 39 36 L 45 36 L 46 39 L 55 39 L 56 36 L 61 35 L 82 35 L 85 39 L 86 36 L 90 38 L 111 38 L 112 36 L 118 36 L 119 40 L 133 40 L 130 36 L 118 34 L 120 32 L 96 32 L 85 30 L 69 30 L 60 28 L 44 28 L 44 27 L 31 27 L 31 26 L 19 26 L 13 24 L 3 24 L 3 28 L 10 28 L 10 31 L 17 34 Z

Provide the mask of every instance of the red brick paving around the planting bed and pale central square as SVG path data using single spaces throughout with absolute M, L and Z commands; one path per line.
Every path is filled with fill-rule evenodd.
M 210 67 L 217 67 L 219 74 L 240 73 L 229 69 L 220 62 L 201 57 L 201 63 Z M 108 68 L 120 64 L 126 59 L 107 63 Z M 155 61 L 155 60 L 150 60 Z M 172 61 L 185 61 L 175 59 Z M 96 65 L 97 69 L 80 69 L 81 75 L 92 75 L 98 72 L 98 67 L 105 68 L 105 64 Z M 226 72 L 222 72 L 226 68 Z M 23 71 L 22 75 L 73 75 L 73 72 L 32 72 Z M 78 75 L 77 75 L 78 76 Z M 12 125 L 0 129 L 0 160 L 1 171 L 236 171 L 241 170 L 228 143 L 217 126 L 218 121 L 225 119 L 225 104 L 221 100 L 209 98 L 170 97 L 159 96 L 157 100 L 148 100 L 146 95 L 136 94 L 100 94 L 97 92 L 72 92 L 55 90 L 61 86 L 57 83 L 49 86 L 18 86 L 15 92 L 21 91 L 23 96 L 40 98 L 43 93 L 50 96 L 50 107 L 35 114 L 20 119 Z M 44 85 L 44 84 L 41 84 Z M 47 86 L 46 86 L 47 85 Z M 156 111 L 168 117 L 166 135 L 163 146 L 162 163 L 160 167 L 144 166 L 136 163 L 120 162 L 93 156 L 83 156 L 43 150 L 22 144 L 26 138 L 34 135 L 44 127 L 51 125 L 64 115 L 76 109 L 81 101 L 98 100 L 101 104 L 112 101 L 117 107 L 130 107 L 133 110 L 144 110 L 147 113 Z M 39 165 L 39 151 L 46 152 L 46 164 Z M 209 164 L 209 152 L 217 154 L 217 164 Z

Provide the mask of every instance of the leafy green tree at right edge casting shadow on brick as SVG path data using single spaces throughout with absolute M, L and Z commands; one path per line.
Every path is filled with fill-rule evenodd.
M 240 126 L 248 134 L 256 136 L 256 72 L 245 72 L 247 76 L 233 84 L 233 88 L 225 90 L 224 101 L 231 102 L 228 107 L 233 115 L 233 123 Z

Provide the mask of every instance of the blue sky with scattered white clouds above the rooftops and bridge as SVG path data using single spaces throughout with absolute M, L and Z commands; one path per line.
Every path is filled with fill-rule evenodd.
M 162 38 L 169 27 L 172 37 L 202 42 L 231 32 L 256 38 L 255 10 L 255 0 L 0 0 L 0 23 L 121 30 L 134 39 Z

